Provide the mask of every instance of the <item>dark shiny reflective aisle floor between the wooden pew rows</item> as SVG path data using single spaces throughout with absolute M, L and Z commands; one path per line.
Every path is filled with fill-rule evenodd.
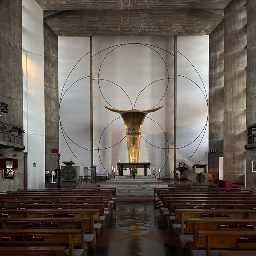
M 149 202 L 119 202 L 88 256 L 188 256 Z

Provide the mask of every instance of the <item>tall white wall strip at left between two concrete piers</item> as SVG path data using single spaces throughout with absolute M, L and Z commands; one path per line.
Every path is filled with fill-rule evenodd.
M 43 19 L 44 11 L 35 0 L 22 0 L 24 152 L 28 153 L 28 188 L 44 188 Z

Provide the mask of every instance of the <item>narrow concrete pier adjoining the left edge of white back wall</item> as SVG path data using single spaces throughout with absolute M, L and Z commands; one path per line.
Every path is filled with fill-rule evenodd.
M 52 153 L 59 148 L 58 104 L 58 37 L 44 23 L 45 170 L 58 168 L 57 154 Z

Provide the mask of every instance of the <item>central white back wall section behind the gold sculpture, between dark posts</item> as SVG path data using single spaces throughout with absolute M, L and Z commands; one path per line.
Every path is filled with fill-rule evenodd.
M 112 47 L 120 44 L 124 45 Z M 155 120 L 163 130 L 165 130 L 166 109 L 164 94 L 166 91 L 166 80 L 164 79 L 166 78 L 166 53 L 164 50 L 150 45 L 165 49 L 166 37 L 117 36 L 93 38 L 93 54 L 100 52 L 102 49 L 111 47 L 97 54 L 93 59 L 93 77 L 98 77 L 99 68 L 101 66 L 99 78 L 104 79 L 99 80 L 99 84 L 98 80 L 94 80 L 93 83 L 94 148 L 98 148 L 98 141 L 104 128 L 112 122 L 112 120 L 120 117 L 120 114 L 110 112 L 106 110 L 104 106 L 113 106 L 121 110 L 130 110 L 132 108 L 145 110 L 153 108 L 156 105 L 163 105 L 164 108 L 148 114 L 147 117 Z M 173 50 L 172 48 L 172 52 Z M 102 63 L 103 60 L 104 62 Z M 169 66 L 168 69 L 173 70 L 172 66 Z M 157 80 L 160 81 L 154 82 Z M 118 84 L 118 86 L 128 94 L 130 100 L 124 91 L 112 82 Z M 152 82 L 154 83 L 148 86 Z M 170 80 L 168 90 L 173 90 L 173 85 L 173 80 Z M 146 86 L 148 87 L 143 90 Z M 136 101 L 137 97 L 138 100 Z M 136 105 L 134 106 L 135 102 Z M 118 143 L 125 136 L 124 122 L 122 118 L 119 118 L 108 126 L 102 135 L 100 148 L 110 147 Z M 162 174 L 165 174 L 165 150 L 151 146 L 146 143 L 143 138 L 153 145 L 165 148 L 164 133 L 154 121 L 148 118 L 145 118 L 142 128 L 139 161 L 147 162 L 147 160 L 149 160 L 152 166 L 155 166 L 157 170 L 158 168 L 160 168 L 160 170 L 163 169 Z M 102 163 L 100 162 L 100 158 Z M 97 169 L 100 171 L 105 168 L 110 172 L 111 166 L 116 166 L 118 159 L 120 159 L 120 162 L 128 162 L 126 139 L 122 140 L 122 142 L 115 147 L 100 150 L 100 158 L 98 152 L 94 152 L 94 164 L 98 165 Z M 144 170 L 139 169 L 138 174 L 144 174 Z

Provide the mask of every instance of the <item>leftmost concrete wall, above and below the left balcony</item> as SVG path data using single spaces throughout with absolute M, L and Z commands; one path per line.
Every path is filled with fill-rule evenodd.
M 0 5 L 0 102 L 9 108 L 0 120 L 23 126 L 21 0 L 2 0 Z M 18 170 L 13 181 L 2 180 L 0 171 L 0 192 L 23 188 L 23 151 L 0 150 L 0 158 L 7 157 L 18 159 Z

